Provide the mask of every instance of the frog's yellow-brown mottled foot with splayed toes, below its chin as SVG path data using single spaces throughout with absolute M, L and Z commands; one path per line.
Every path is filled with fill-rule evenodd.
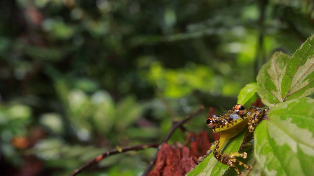
M 235 166 L 235 163 L 240 165 L 240 166 L 243 166 L 248 171 L 252 170 L 252 168 L 253 168 L 252 166 L 244 164 L 243 162 L 235 159 L 235 157 L 246 158 L 247 153 L 243 152 L 242 154 L 240 154 L 238 152 L 232 152 L 230 154 L 223 154 L 220 158 L 220 162 L 227 164 L 230 167 L 233 167 L 238 176 L 242 176 L 243 173 L 239 171 L 239 169 Z

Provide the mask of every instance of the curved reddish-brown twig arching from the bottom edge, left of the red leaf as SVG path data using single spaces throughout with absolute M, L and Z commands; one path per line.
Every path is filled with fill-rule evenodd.
M 94 159 L 90 160 L 89 162 L 87 162 L 83 166 L 76 169 L 70 176 L 76 176 L 78 173 L 82 172 L 82 170 L 89 168 L 91 165 L 98 163 L 99 161 L 103 160 L 105 157 L 108 157 L 109 155 L 119 154 L 119 153 L 128 152 L 128 151 L 132 151 L 132 150 L 139 151 L 139 150 L 144 150 L 144 149 L 150 148 L 150 147 L 157 148 L 158 146 L 159 146 L 159 144 L 151 143 L 151 144 L 141 144 L 141 145 L 122 147 L 119 149 L 107 151 L 103 154 L 98 155 Z

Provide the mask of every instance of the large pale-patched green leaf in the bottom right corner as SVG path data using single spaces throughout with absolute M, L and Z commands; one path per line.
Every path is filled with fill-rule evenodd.
M 268 176 L 312 176 L 314 99 L 278 104 L 257 127 L 255 157 Z

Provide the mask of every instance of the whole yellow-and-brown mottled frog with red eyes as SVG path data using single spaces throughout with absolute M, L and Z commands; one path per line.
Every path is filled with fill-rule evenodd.
M 259 107 L 251 107 L 246 109 L 243 105 L 235 105 L 232 110 L 228 110 L 227 113 L 220 115 L 210 115 L 207 119 L 207 126 L 212 130 L 220 134 L 220 139 L 214 141 L 210 147 L 207 155 L 201 156 L 199 161 L 202 161 L 206 156 L 208 156 L 212 151 L 214 157 L 221 163 L 227 164 L 230 167 L 233 167 L 238 176 L 242 176 L 243 173 L 238 170 L 235 166 L 235 163 L 243 166 L 248 171 L 252 170 L 252 166 L 248 166 L 243 162 L 235 159 L 235 157 L 246 158 L 247 153 L 238 153 L 232 152 L 230 154 L 221 153 L 223 146 L 226 141 L 236 134 L 248 127 L 249 132 L 252 133 L 255 130 L 255 127 L 261 121 L 263 115 L 263 110 Z

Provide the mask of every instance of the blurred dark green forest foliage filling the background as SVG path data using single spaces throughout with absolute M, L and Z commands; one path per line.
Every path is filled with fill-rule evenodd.
M 1 0 L 2 172 L 23 170 L 36 154 L 44 163 L 36 174 L 69 174 L 115 146 L 159 142 L 199 105 L 230 109 L 274 51 L 292 54 L 313 33 L 312 6 Z M 206 113 L 187 128 L 205 129 Z M 184 139 L 178 131 L 169 143 Z M 106 158 L 93 174 L 138 175 L 155 151 Z

